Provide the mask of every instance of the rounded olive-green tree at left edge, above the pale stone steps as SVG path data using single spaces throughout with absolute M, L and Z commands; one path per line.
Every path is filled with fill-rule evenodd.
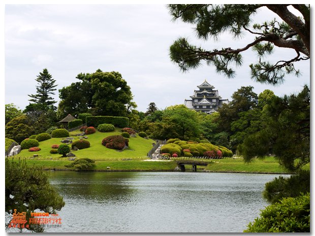
M 18 143 L 34 133 L 33 126 L 25 115 L 13 118 L 6 125 L 6 138 L 13 139 Z

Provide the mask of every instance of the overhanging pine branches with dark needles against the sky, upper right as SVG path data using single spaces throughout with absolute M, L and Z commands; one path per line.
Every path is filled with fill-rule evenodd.
M 298 11 L 302 17 L 295 15 L 289 6 Z M 282 21 L 271 19 L 263 23 L 251 25 L 251 16 L 266 7 Z M 211 5 L 211 4 L 170 4 L 168 5 L 173 20 L 180 19 L 186 23 L 196 24 L 197 37 L 217 40 L 222 33 L 229 32 L 231 38 L 240 39 L 244 33 L 253 36 L 239 49 L 227 45 L 222 49 L 205 50 L 188 43 L 187 39 L 179 38 L 170 47 L 171 60 L 177 63 L 182 71 L 196 69 L 201 61 L 214 65 L 218 73 L 234 77 L 232 65 L 242 64 L 242 52 L 249 48 L 258 56 L 256 64 L 250 64 L 251 78 L 262 82 L 281 83 L 285 73 L 295 73 L 295 63 L 310 58 L 310 8 L 303 4 L 257 4 L 257 5 Z M 266 61 L 273 48 L 287 48 L 296 52 L 292 59 L 279 60 L 275 63 Z

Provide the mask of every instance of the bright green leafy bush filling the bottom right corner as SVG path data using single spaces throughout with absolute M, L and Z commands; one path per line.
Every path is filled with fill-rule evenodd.
M 266 207 L 244 232 L 310 232 L 309 193 Z

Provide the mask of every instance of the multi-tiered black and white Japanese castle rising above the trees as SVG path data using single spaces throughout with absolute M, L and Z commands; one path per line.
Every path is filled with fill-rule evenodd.
M 223 104 L 229 104 L 229 100 L 221 99 L 218 91 L 206 80 L 197 87 L 199 90 L 195 90 L 194 95 L 190 96 L 192 99 L 185 99 L 184 105 L 187 108 L 212 114 Z

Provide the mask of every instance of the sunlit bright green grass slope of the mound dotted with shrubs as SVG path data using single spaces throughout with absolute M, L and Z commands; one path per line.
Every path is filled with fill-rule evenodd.
M 106 148 L 102 145 L 102 140 L 110 135 L 120 134 L 121 128 L 116 128 L 113 132 L 99 132 L 87 135 L 87 141 L 90 142 L 90 147 L 78 151 L 72 151 L 78 158 L 90 158 L 93 160 L 119 160 L 123 158 L 136 158 L 146 156 L 148 151 L 152 148 L 153 140 L 144 139 L 136 135 L 135 138 L 129 138 L 129 149 L 123 151 L 117 151 L 114 149 Z M 71 134 L 77 133 L 76 131 L 71 132 Z M 77 137 L 74 137 L 78 139 Z M 50 154 L 51 146 L 53 144 L 61 144 L 61 138 L 52 138 L 40 142 L 39 147 L 41 151 L 38 152 L 29 152 L 28 150 L 22 150 L 15 157 L 33 157 L 34 154 L 38 154 L 40 159 L 67 159 L 61 158 L 59 154 Z M 69 145 L 71 146 L 71 145 Z

